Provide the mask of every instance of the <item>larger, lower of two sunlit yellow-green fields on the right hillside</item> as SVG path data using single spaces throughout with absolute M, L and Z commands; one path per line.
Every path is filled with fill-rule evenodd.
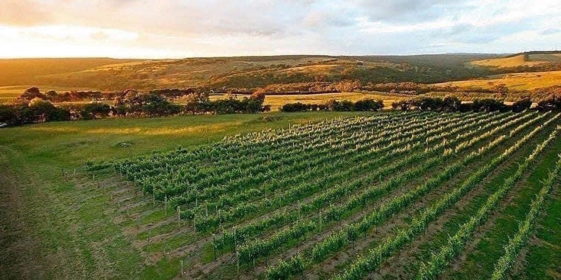
M 540 87 L 561 85 L 561 71 L 513 73 L 491 76 L 488 79 L 437 83 L 435 85 L 451 84 L 466 90 L 475 90 L 476 88 L 491 88 L 500 83 L 504 83 L 511 90 L 534 90 Z

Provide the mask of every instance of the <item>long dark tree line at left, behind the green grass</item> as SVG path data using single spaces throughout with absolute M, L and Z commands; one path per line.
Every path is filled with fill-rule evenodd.
M 263 93 L 255 93 L 242 99 L 229 95 L 227 99 L 211 101 L 206 93 L 190 91 L 180 98 L 182 104 L 169 102 L 166 97 L 166 95 L 178 94 L 178 91 L 173 90 L 171 92 L 126 90 L 115 94 L 112 104 L 93 101 L 54 105 L 52 99 L 46 98 L 47 93 L 43 94 L 39 88 L 31 87 L 13 104 L 0 104 L 0 123 L 22 125 L 99 119 L 108 116 L 138 118 L 181 114 L 261 113 L 270 110 L 270 106 L 263 105 L 265 101 Z

